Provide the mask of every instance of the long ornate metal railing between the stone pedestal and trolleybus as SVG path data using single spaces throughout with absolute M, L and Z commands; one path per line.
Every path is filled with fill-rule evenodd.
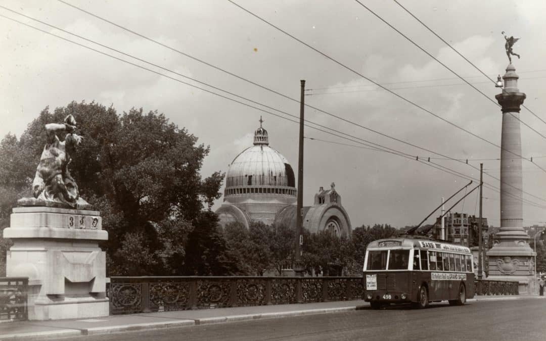
M 361 300 L 362 277 L 111 277 L 110 314 Z

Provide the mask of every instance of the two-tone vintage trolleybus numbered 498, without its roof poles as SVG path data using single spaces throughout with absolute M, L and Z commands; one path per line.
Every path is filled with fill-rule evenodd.
M 426 308 L 474 297 L 472 253 L 464 246 L 419 238 L 371 242 L 364 260 L 364 299 L 378 309 L 390 303 Z

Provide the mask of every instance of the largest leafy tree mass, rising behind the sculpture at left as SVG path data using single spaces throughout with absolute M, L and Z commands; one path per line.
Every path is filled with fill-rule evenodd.
M 113 107 L 72 102 L 54 112 L 46 107 L 18 141 L 8 134 L 0 146 L 1 226 L 8 225 L 15 199 L 30 189 L 46 143 L 44 125 L 68 114 L 84 136 L 70 173 L 82 198 L 102 214 L 109 275 L 179 273 L 185 235 L 200 221 L 203 206 L 210 208 L 221 196 L 223 174 L 201 179 L 209 147 L 156 111 L 118 115 Z M 131 243 L 149 254 L 138 270 L 126 266 L 133 261 Z

